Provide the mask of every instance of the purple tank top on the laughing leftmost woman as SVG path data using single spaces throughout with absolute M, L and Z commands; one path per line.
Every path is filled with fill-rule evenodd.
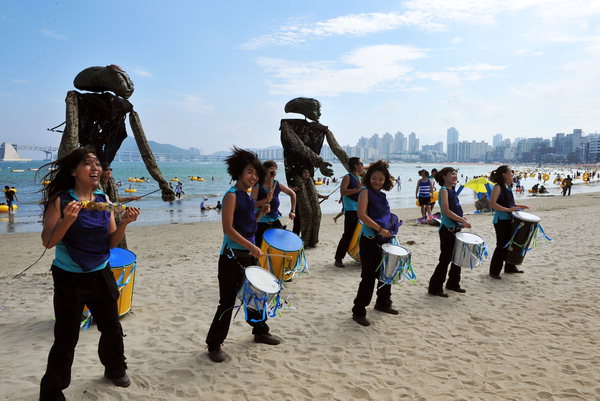
M 67 203 L 76 200 L 71 194 L 60 196 L 61 215 Z M 106 202 L 102 194 L 95 194 L 95 202 Z M 108 246 L 108 229 L 110 212 L 81 209 L 77 220 L 69 227 L 62 243 L 67 248 L 69 256 L 81 266 L 83 271 L 90 271 L 106 262 L 110 257 Z

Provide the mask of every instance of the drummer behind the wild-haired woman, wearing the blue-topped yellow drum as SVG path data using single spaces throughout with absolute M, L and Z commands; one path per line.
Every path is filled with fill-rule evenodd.
M 279 194 L 283 192 L 290 197 L 291 209 L 288 217 L 293 220 L 296 217 L 296 193 L 290 188 L 275 179 L 277 175 L 277 163 L 273 160 L 267 160 L 263 163 L 267 176 L 264 184 L 257 184 L 252 188 L 252 199 L 256 201 L 256 207 L 260 208 L 268 203 L 271 207 L 269 213 L 264 214 L 258 221 L 256 230 L 256 246 L 262 245 L 262 237 L 269 228 L 283 228 L 281 224 L 281 212 L 279 211 Z

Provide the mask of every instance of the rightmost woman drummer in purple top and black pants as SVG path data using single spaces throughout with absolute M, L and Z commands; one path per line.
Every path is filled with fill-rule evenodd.
M 504 246 L 510 240 L 512 229 L 512 212 L 519 209 L 529 209 L 525 205 L 515 205 L 510 186 L 513 183 L 513 170 L 506 165 L 498 167 L 490 174 L 490 181 L 496 185 L 492 189 L 490 207 L 494 209 L 494 231 L 496 231 L 496 249 L 490 262 L 490 277 L 500 280 L 500 272 L 504 265 L 504 273 L 523 273 L 517 266 L 506 261 L 508 249 Z

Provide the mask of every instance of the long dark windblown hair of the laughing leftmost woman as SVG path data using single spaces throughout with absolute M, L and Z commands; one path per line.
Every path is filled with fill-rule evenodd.
M 75 177 L 71 175 L 71 172 L 75 170 L 79 163 L 81 163 L 81 161 L 90 153 L 96 155 L 96 150 L 91 146 L 77 148 L 68 155 L 63 156 L 52 163 L 44 164 L 40 168 L 50 168 L 50 171 L 42 177 L 42 181 L 49 181 L 48 185 L 44 186 L 41 190 L 41 204 L 44 208 L 42 216 L 46 215 L 48 206 L 56 200 L 58 195 L 75 187 Z

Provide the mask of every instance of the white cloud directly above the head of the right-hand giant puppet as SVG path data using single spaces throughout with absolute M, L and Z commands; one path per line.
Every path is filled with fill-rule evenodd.
M 274 94 L 306 96 L 367 93 L 403 87 L 413 70 L 411 61 L 425 57 L 425 51 L 408 46 L 375 45 L 356 49 L 339 62 L 299 63 L 262 57 L 257 60 L 275 77 Z

